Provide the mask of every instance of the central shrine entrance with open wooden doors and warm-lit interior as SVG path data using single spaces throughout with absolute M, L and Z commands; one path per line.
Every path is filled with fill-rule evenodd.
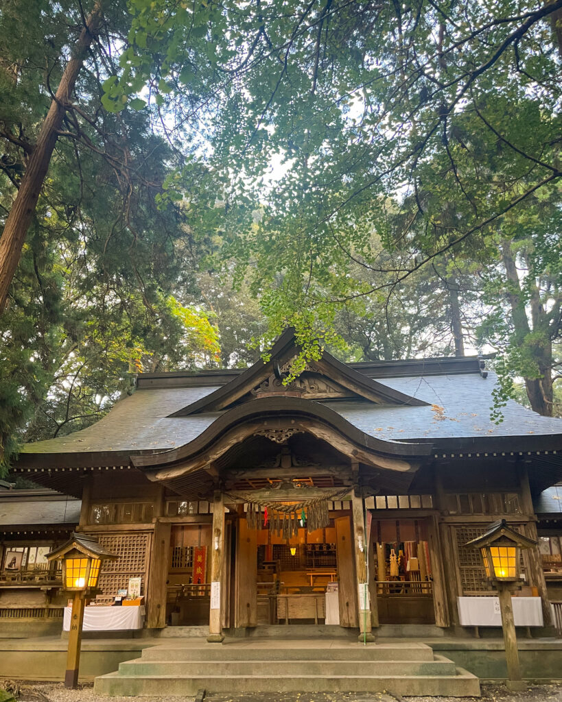
M 336 501 L 334 509 L 327 500 L 312 508 L 302 501 L 240 505 L 231 563 L 235 629 L 358 625 L 349 505 Z

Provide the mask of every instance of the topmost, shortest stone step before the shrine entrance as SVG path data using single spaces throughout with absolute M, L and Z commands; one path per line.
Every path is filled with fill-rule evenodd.
M 308 645 L 306 645 L 308 644 Z M 244 644 L 183 641 L 143 649 L 143 661 L 433 661 L 433 650 L 419 642 L 344 644 L 283 640 Z

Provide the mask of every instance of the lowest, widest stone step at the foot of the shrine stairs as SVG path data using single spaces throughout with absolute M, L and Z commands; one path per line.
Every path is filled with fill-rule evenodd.
M 334 661 L 334 667 L 337 661 Z M 110 696 L 192 696 L 236 692 L 382 692 L 411 696 L 480 695 L 478 678 L 462 668 L 456 675 L 120 675 L 96 677 L 94 692 Z

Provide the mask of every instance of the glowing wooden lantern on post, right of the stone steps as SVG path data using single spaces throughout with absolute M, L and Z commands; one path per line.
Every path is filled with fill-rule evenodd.
M 507 687 L 523 690 L 526 685 L 521 679 L 519 667 L 511 593 L 521 588 L 521 549 L 532 548 L 537 542 L 511 529 L 505 519 L 499 519 L 490 524 L 485 534 L 466 545 L 480 550 L 486 576 L 497 590 L 504 633 Z

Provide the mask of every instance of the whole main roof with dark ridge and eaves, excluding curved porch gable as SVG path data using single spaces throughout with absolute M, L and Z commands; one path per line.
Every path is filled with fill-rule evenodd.
M 282 364 L 297 350 L 289 330 L 275 344 L 272 358 Z M 510 400 L 502 409 L 503 421 L 492 422 L 496 378 L 483 371 L 483 361 L 476 357 L 346 366 L 325 354 L 318 368 L 345 387 L 348 397 L 299 402 L 332 425 L 339 421 L 344 433 L 364 437 L 357 439 L 363 445 L 377 439 L 380 446 L 426 443 L 436 451 L 562 449 L 561 419 L 540 416 Z M 26 444 L 18 464 L 130 465 L 131 456 L 175 451 L 197 442 L 185 449 L 192 452 L 199 437 L 204 441 L 217 435 L 230 422 L 226 415 L 237 416 L 232 411 L 265 411 L 266 397 L 244 400 L 273 370 L 272 361 L 242 371 L 141 375 L 133 395 L 117 402 L 103 419 L 67 436 Z M 282 395 L 275 400 L 287 399 Z M 294 409 L 304 411 L 304 406 Z M 408 449 L 402 446 L 400 451 L 407 455 Z

